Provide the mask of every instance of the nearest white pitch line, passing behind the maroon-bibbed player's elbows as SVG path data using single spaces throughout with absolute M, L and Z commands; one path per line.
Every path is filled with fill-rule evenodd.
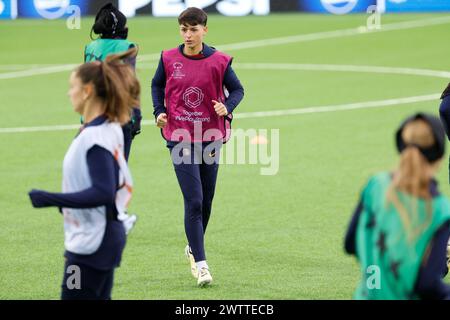
M 350 104 L 285 109 L 285 110 L 275 110 L 275 111 L 245 112 L 245 113 L 237 113 L 234 116 L 234 118 L 236 118 L 236 119 L 251 119 L 251 118 L 262 118 L 262 117 L 276 117 L 276 116 L 288 116 L 288 115 L 299 115 L 299 114 L 348 111 L 348 110 L 368 109 L 368 108 L 380 108 L 380 107 L 410 104 L 410 103 L 417 103 L 417 102 L 434 101 L 434 100 L 438 100 L 439 97 L 440 97 L 440 94 L 435 93 L 435 94 L 429 94 L 429 95 L 424 95 L 424 96 L 406 97 L 406 98 L 398 98 L 398 99 L 387 99 L 387 100 L 378 100 L 378 101 L 367 101 L 367 102 L 356 102 L 356 103 L 350 103 Z M 154 121 L 151 121 L 151 120 L 142 121 L 142 125 L 154 125 L 154 124 L 155 124 Z M 80 128 L 80 125 L 0 128 L 0 134 L 2 134 L 2 133 L 63 131 L 63 130 L 76 130 L 78 128 Z

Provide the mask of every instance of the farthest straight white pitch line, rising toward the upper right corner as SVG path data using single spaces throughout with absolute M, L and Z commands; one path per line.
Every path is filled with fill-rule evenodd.
M 450 23 L 450 16 L 384 24 L 384 25 L 382 25 L 381 29 L 373 30 L 373 31 L 364 31 L 365 30 L 364 28 L 357 27 L 357 28 L 341 29 L 341 30 L 334 30 L 334 31 L 316 32 L 316 33 L 310 33 L 310 34 L 300 34 L 300 35 L 288 36 L 288 37 L 279 37 L 279 38 L 261 39 L 261 40 L 255 40 L 255 41 L 245 41 L 245 42 L 238 42 L 238 43 L 231 43 L 231 44 L 223 44 L 223 45 L 218 45 L 217 48 L 222 51 L 253 49 L 253 48 L 261 48 L 261 47 L 267 47 L 267 46 L 283 45 L 283 44 L 298 43 L 298 42 L 305 42 L 305 41 L 340 38 L 340 37 L 354 36 L 354 35 L 360 35 L 360 34 L 375 34 L 375 33 L 385 32 L 385 31 L 406 30 L 406 29 L 412 29 L 412 28 L 440 25 L 440 24 L 445 24 L 445 23 Z M 147 55 L 141 55 L 141 56 L 138 56 L 138 61 L 157 61 L 160 58 L 160 56 L 161 56 L 161 53 L 152 53 L 152 54 L 147 54 Z M 31 70 L 18 71 L 18 72 L 0 73 L 0 80 L 30 77 L 30 76 L 34 76 L 34 75 L 40 75 L 40 74 L 51 74 L 51 73 L 56 73 L 56 72 L 68 71 L 68 70 L 72 70 L 76 66 L 77 66 L 76 64 L 71 64 L 71 65 L 61 65 L 61 66 L 48 67 L 48 68 L 42 68 L 42 69 L 31 69 Z

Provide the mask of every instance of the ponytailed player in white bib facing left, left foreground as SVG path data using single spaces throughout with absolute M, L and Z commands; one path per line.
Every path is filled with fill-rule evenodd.
M 63 300 L 111 299 L 132 193 L 121 126 L 130 120 L 130 106 L 139 104 L 130 92 L 140 90 L 122 60 L 135 54 L 131 49 L 72 72 L 68 94 L 85 123 L 64 158 L 63 193 L 29 193 L 35 208 L 59 207 L 64 215 Z M 73 272 L 80 277 L 78 284 L 70 278 Z

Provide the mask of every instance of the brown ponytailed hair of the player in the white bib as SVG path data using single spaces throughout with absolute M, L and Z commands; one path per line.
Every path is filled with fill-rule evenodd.
M 104 114 L 110 121 L 130 121 L 133 106 L 140 105 L 140 84 L 133 68 L 124 60 L 136 57 L 137 49 L 110 55 L 104 62 L 82 64 L 75 72 L 83 84 L 92 83 L 95 94 L 104 102 Z

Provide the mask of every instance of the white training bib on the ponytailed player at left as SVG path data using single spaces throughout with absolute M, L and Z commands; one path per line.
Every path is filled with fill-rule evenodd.
M 73 140 L 64 157 L 63 193 L 79 192 L 92 186 L 87 152 L 93 146 L 105 148 L 119 165 L 119 190 L 116 192 L 118 219 L 128 215 L 133 181 L 124 157 L 124 138 L 120 124 L 105 121 L 99 126 L 87 127 Z M 90 209 L 63 208 L 66 250 L 77 254 L 92 254 L 100 247 L 106 228 L 106 207 Z

